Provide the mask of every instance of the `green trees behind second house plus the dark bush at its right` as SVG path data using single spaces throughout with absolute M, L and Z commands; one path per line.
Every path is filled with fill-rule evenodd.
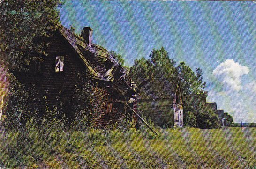
M 179 76 L 183 95 L 191 97 L 198 94 L 207 94 L 204 89 L 206 82 L 203 82 L 202 69 L 196 68 L 196 73 L 185 62 L 176 66 L 175 60 L 171 59 L 168 52 L 162 47 L 159 50 L 153 49 L 149 54 L 149 59 L 136 59 L 133 67 L 130 68 L 130 75 L 134 79 L 173 77 Z M 139 85 L 139 84 L 138 84 Z M 218 128 L 218 117 L 211 110 L 205 110 L 203 101 L 198 105 L 193 105 L 191 101 L 183 99 L 183 119 L 184 125 L 200 128 Z M 192 105 L 192 110 L 190 109 Z

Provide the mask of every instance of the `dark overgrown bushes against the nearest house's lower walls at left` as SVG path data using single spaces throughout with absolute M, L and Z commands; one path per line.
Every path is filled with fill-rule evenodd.
M 80 130 L 90 126 L 92 119 L 97 116 L 97 112 L 92 111 L 95 106 L 92 101 L 97 100 L 97 96 L 94 95 L 91 79 L 87 73 L 78 74 L 73 97 L 67 100 L 60 91 L 55 104 L 50 105 L 47 92 L 39 93 L 34 86 L 26 88 L 15 76 L 9 74 L 10 88 L 5 103 L 4 129 L 23 131 L 31 121 L 45 129 Z M 45 106 L 38 107 L 42 103 Z

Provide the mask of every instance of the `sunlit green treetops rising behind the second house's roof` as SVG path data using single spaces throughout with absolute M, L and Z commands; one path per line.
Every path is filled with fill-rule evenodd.
M 196 73 L 194 73 L 185 62 L 176 66 L 176 61 L 170 59 L 164 47 L 160 50 L 153 49 L 149 58 L 134 61 L 134 66 L 130 70 L 130 75 L 133 78 L 148 78 L 151 73 L 153 73 L 154 78 L 179 76 L 184 95 L 204 92 L 206 83 L 203 82 L 202 69 L 197 68 Z

